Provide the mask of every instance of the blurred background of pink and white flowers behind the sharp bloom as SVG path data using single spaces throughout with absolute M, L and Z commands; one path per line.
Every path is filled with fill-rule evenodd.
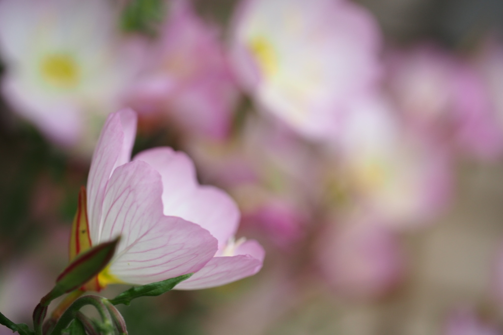
M 0 310 L 31 322 L 106 116 L 131 107 L 134 152 L 187 152 L 266 249 L 253 277 L 122 308 L 131 334 L 503 334 L 502 18 L 498 0 L 0 0 Z

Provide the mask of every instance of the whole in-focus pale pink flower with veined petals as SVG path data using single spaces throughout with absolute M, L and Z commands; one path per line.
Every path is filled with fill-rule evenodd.
M 199 186 L 192 161 L 171 148 L 146 150 L 130 161 L 135 131 L 133 111 L 111 114 L 91 163 L 91 244 L 122 236 L 99 287 L 195 272 L 177 288 L 198 289 L 257 273 L 264 251 L 254 240 L 233 240 L 239 212 L 230 197 Z

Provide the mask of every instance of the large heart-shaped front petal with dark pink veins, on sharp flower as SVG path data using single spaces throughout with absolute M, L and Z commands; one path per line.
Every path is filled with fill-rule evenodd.
M 141 178 L 139 178 L 141 176 Z M 201 269 L 217 241 L 197 224 L 162 214 L 161 178 L 150 165 L 117 167 L 107 186 L 99 240 L 123 238 L 110 274 L 131 284 L 148 284 Z

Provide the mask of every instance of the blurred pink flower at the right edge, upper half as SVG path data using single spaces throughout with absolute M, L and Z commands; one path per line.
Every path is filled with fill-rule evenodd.
M 388 61 L 391 92 L 410 126 L 479 158 L 501 152 L 503 130 L 473 65 L 431 44 Z

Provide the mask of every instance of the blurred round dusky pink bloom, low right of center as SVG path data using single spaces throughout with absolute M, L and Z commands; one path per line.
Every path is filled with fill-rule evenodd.
M 318 264 L 340 295 L 377 298 L 402 279 L 404 257 L 397 236 L 370 215 L 326 227 L 318 244 Z

